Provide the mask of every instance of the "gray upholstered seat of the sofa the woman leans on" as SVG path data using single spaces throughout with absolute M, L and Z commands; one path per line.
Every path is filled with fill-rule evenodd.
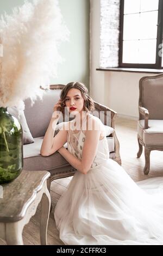
M 114 151 L 114 138 L 107 137 L 108 139 L 108 147 L 109 151 Z M 70 164 L 62 157 L 58 152 L 54 153 L 51 156 L 43 157 L 40 155 L 40 148 L 43 141 L 43 137 L 35 138 L 34 144 L 27 144 L 23 147 L 23 155 L 24 155 L 24 166 L 23 168 L 26 170 L 52 170 L 69 166 L 72 168 Z M 67 143 L 64 145 L 67 148 Z M 110 157 L 112 155 L 110 154 Z

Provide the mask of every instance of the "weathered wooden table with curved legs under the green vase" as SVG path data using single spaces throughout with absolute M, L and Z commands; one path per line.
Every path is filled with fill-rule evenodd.
M 41 202 L 40 240 L 47 245 L 47 225 L 51 197 L 47 189 L 46 171 L 23 170 L 20 176 L 3 187 L 3 198 L 0 198 L 0 237 L 8 245 L 23 245 L 22 231 L 30 218 L 35 214 Z

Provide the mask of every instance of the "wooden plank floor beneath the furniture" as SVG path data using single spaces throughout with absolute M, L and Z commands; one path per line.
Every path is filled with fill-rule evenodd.
M 145 164 L 145 157 L 142 154 L 140 159 L 136 158 L 138 151 L 137 144 L 137 121 L 125 118 L 116 119 L 116 133 L 120 141 L 120 153 L 122 159 L 122 166 L 126 172 L 133 178 L 134 181 L 148 179 L 154 176 L 163 176 L 163 152 L 152 151 L 151 153 L 151 169 L 148 175 L 143 174 L 143 167 Z M 59 232 L 55 227 L 54 222 L 54 207 L 62 194 L 66 190 L 66 186 L 70 182 L 70 178 L 60 179 L 52 182 L 51 198 L 53 204 L 53 211 L 49 217 L 48 224 L 48 245 L 63 245 L 59 239 Z M 24 245 L 39 245 L 39 220 L 40 220 L 40 207 L 38 207 L 35 216 L 24 227 L 23 241 Z M 5 242 L 0 239 L 0 245 L 5 245 Z

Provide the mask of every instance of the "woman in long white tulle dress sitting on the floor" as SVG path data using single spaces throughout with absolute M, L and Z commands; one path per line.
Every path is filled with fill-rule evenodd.
M 63 107 L 75 118 L 53 138 Z M 84 84 L 67 84 L 41 147 L 43 156 L 58 150 L 77 169 L 54 212 L 60 239 L 66 245 L 162 245 L 163 178 L 135 183 L 109 159 L 104 126 L 92 109 Z

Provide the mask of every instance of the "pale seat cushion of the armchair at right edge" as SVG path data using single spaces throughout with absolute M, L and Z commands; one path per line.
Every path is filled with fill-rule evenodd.
M 137 124 L 138 134 L 145 145 L 163 144 L 163 120 L 148 120 L 148 129 L 143 129 L 145 120 L 139 120 Z

